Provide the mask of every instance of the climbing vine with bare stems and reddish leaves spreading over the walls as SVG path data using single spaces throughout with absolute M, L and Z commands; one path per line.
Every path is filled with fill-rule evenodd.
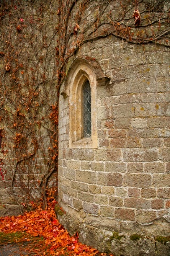
M 169 48 L 167 0 L 2 0 L 0 179 L 27 209 L 57 184 L 58 95 L 70 60 L 113 36 Z

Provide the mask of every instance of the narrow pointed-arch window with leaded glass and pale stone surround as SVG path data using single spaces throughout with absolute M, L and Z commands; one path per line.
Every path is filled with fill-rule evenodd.
M 96 76 L 87 61 L 80 61 L 69 73 L 71 148 L 97 147 Z

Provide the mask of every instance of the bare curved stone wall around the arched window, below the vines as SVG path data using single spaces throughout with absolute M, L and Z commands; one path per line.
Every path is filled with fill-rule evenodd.
M 101 251 L 169 255 L 169 48 L 108 36 L 82 56 L 111 80 L 96 88 L 97 148 L 69 146 L 71 77 L 62 84 L 59 221 Z

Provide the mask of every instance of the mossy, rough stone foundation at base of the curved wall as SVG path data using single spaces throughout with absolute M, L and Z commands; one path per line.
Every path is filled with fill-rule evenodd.
M 104 253 L 113 253 L 116 256 L 169 256 L 170 236 L 169 222 L 162 219 L 155 220 L 147 225 L 128 221 L 105 220 L 98 222 L 95 216 L 84 216 L 71 209 L 74 214 L 63 213 L 56 208 L 59 222 L 71 235 L 79 234 L 79 241 L 95 247 Z M 84 217 L 84 218 L 83 218 Z M 167 236 L 162 236 L 167 234 Z M 149 235 L 148 235 L 149 234 Z

